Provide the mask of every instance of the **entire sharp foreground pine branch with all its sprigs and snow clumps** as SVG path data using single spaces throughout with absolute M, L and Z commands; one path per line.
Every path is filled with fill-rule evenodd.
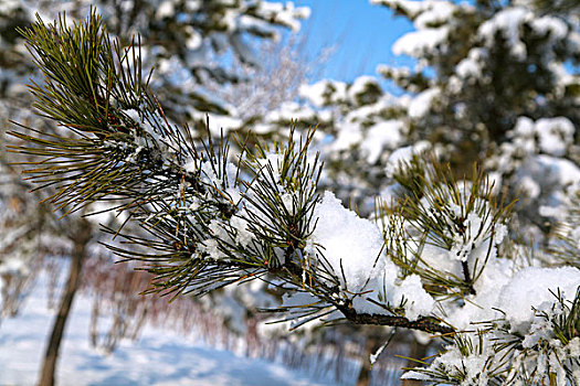
M 150 291 L 265 280 L 286 291 L 278 311 L 295 326 L 342 319 L 442 336 L 444 351 L 405 378 L 580 384 L 580 271 L 514 257 L 510 205 L 477 168 L 456 181 L 408 152 L 390 165 L 398 197 L 361 218 L 319 192 L 314 130 L 291 129 L 285 143 L 238 139 L 231 154 L 226 137 L 199 142 L 166 118 L 138 44 L 112 41 L 95 13 L 22 33 L 45 75 L 31 86 L 35 107 L 61 132 L 22 126 L 12 135 L 28 146 L 12 151 L 39 157 L 27 172 L 59 186 L 57 207 L 104 202 L 140 225 L 104 230 L 127 242 L 109 245 L 122 259 L 155 275 Z

